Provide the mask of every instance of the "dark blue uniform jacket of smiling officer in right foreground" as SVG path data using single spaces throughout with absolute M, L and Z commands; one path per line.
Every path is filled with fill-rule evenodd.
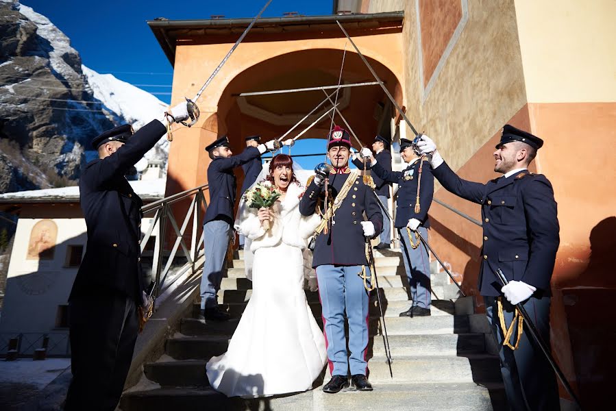
M 446 163 L 432 173 L 445 189 L 481 204 L 481 295 L 502 295 L 496 269 L 502 269 L 509 281 L 534 286 L 538 295 L 550 295 L 560 238 L 554 191 L 547 178 L 525 170 L 481 184 L 461 179 Z

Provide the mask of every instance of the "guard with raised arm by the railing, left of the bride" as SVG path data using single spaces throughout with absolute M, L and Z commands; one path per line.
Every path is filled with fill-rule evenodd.
M 225 321 L 230 319 L 227 312 L 218 308 L 217 292 L 223 279 L 225 255 L 234 221 L 236 177 L 233 169 L 259 158 L 265 151 L 275 151 L 279 146 L 270 140 L 256 147 L 246 147 L 233 155 L 227 136 L 221 137 L 206 147 L 212 162 L 208 166 L 210 205 L 204 219 L 205 257 L 204 273 L 201 277 L 201 310 L 206 320 Z

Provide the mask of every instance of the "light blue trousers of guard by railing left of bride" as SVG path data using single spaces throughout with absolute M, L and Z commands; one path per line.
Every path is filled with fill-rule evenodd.
M 218 306 L 216 296 L 223 280 L 225 256 L 229 245 L 231 226 L 226 221 L 214 220 L 204 224 L 204 275 L 201 277 L 201 309 Z

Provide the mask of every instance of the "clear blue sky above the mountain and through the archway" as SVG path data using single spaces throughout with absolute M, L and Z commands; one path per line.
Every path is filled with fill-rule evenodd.
M 225 18 L 253 17 L 265 0 L 21 0 L 21 3 L 47 16 L 69 36 L 83 64 L 90 69 L 139 85 L 169 103 L 173 68 L 146 21 L 157 17 L 210 18 L 214 14 L 223 14 Z M 332 0 L 273 0 L 263 16 L 282 16 L 284 12 L 327 15 L 332 14 L 332 8 Z M 291 151 L 296 155 L 324 152 L 323 140 L 297 140 Z M 305 169 L 312 169 L 323 160 L 321 155 L 295 158 Z

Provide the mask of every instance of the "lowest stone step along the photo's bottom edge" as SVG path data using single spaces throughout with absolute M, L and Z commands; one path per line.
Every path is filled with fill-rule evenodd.
M 306 393 L 258 399 L 227 398 L 212 388 L 157 388 L 125 393 L 123 411 L 491 411 L 506 410 L 501 385 L 473 383 L 377 384 L 373 391 L 343 390 L 325 394 L 321 388 Z

